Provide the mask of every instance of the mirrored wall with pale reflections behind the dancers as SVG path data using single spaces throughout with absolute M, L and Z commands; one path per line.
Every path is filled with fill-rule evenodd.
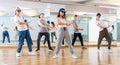
M 93 38 L 94 36 L 96 36 L 97 34 L 99 34 L 99 32 L 96 32 L 96 31 L 92 31 L 92 29 L 94 29 L 95 27 L 93 27 L 92 29 L 90 29 L 90 23 L 95 23 L 96 20 L 95 20 L 95 13 L 94 14 L 90 14 L 90 13 L 87 13 L 87 14 L 83 14 L 83 15 L 78 15 L 78 26 L 80 28 L 83 28 L 84 30 L 83 31 L 80 31 L 82 33 L 82 36 L 83 36 L 83 40 L 85 42 L 85 44 L 90 44 L 90 43 L 93 43 L 93 42 L 90 42 L 90 38 Z M 114 17 L 114 19 L 110 20 L 110 17 Z M 102 18 L 106 20 L 106 22 L 109 24 L 109 25 L 113 25 L 114 26 L 114 30 L 111 32 L 111 36 L 112 36 L 112 44 L 119 44 L 120 42 L 120 19 L 115 18 L 116 14 L 103 14 Z M 11 45 L 17 45 L 17 40 L 18 40 L 18 37 L 16 37 L 16 31 L 14 30 L 15 29 L 15 22 L 13 21 L 13 17 L 14 16 L 1 16 L 0 17 L 0 24 L 4 24 L 8 27 L 8 31 L 9 31 L 9 35 L 10 35 L 10 44 Z M 31 16 L 24 16 L 24 19 L 27 19 L 28 21 L 31 21 L 30 23 L 30 26 L 33 27 L 33 30 L 30 30 L 30 34 L 31 34 L 31 37 L 32 37 L 32 40 L 34 42 L 34 44 L 36 44 L 36 39 L 37 39 L 37 35 L 38 35 L 38 32 L 39 32 L 39 26 L 38 26 L 38 21 L 39 21 L 39 18 L 37 16 L 35 17 L 31 17 Z M 50 13 L 50 16 L 47 16 L 46 17 L 46 21 L 49 21 L 49 22 L 54 22 L 56 23 L 56 17 L 57 17 L 57 13 L 56 12 L 51 12 Z M 68 21 L 72 21 L 73 20 L 73 14 L 67 14 L 67 19 Z M 92 21 L 92 22 L 90 22 Z M 92 25 L 93 26 L 93 25 Z M 109 29 L 108 29 L 109 30 Z M 71 38 L 73 37 L 73 26 L 71 25 L 69 27 L 69 33 L 70 33 L 70 36 Z M 89 33 L 93 33 L 91 37 L 89 37 L 91 34 Z M 51 38 L 50 38 L 51 39 Z M 44 40 L 44 36 L 42 37 L 42 41 Z M 56 39 L 54 38 L 54 40 L 56 41 Z M 77 38 L 77 41 L 79 40 L 79 38 Z M 107 44 L 106 40 L 103 39 L 103 44 Z M 2 30 L 0 31 L 0 43 L 2 44 Z M 13 44 L 14 43 L 14 44 Z M 5 38 L 5 44 L 9 44 L 7 42 L 7 38 Z M 97 39 L 95 41 L 95 44 L 97 44 Z M 4 44 L 3 44 L 4 45 Z

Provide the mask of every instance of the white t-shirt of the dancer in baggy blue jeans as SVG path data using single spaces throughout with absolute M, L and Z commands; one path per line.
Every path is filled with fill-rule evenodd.
M 14 21 L 18 28 L 18 31 L 24 31 L 24 30 L 28 29 L 26 24 L 20 25 L 20 24 L 16 23 L 16 21 L 23 21 L 23 17 L 14 16 Z

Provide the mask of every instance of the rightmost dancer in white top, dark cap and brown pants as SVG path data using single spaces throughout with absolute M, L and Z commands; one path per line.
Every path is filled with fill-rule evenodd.
M 100 19 L 101 14 L 97 13 L 96 14 L 96 25 L 100 28 L 99 31 L 99 38 L 98 38 L 98 51 L 100 51 L 100 44 L 102 42 L 102 39 L 105 37 L 105 39 L 108 42 L 108 50 L 110 51 L 111 49 L 111 38 L 108 33 L 107 28 L 110 27 L 110 25 L 106 24 L 103 20 Z

